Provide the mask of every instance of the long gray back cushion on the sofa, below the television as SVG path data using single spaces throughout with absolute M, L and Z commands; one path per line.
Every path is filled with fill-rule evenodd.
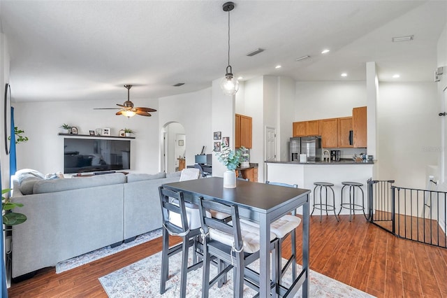
M 110 173 L 91 177 L 73 177 L 69 179 L 41 180 L 34 184 L 33 193 L 61 192 L 78 188 L 95 187 L 125 183 L 126 176 L 123 173 Z

